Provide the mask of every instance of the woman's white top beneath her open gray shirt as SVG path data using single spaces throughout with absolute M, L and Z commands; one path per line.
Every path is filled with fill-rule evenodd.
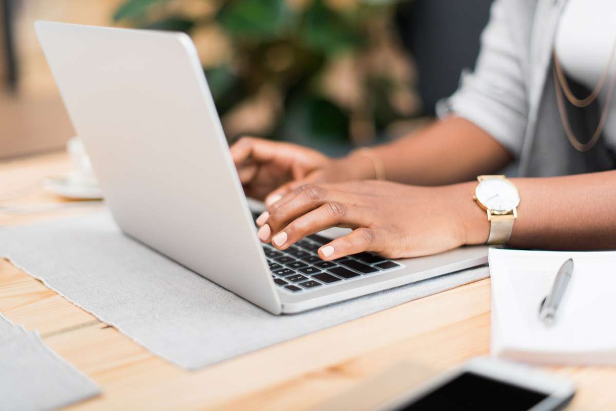
M 556 32 L 556 53 L 570 78 L 594 90 L 609 64 L 616 41 L 616 2 L 610 0 L 569 0 L 562 12 Z M 616 70 L 616 58 L 610 73 Z M 610 76 L 599 93 L 599 107 L 603 110 L 609 92 Z M 585 98 L 586 95 L 577 95 Z M 604 128 L 609 146 L 616 147 L 616 97 L 612 97 Z M 567 103 L 568 104 L 568 103 Z M 601 111 L 602 113 L 602 111 Z M 597 124 L 598 125 L 598 124 Z M 590 130 L 592 133 L 594 131 Z M 585 141 L 591 136 L 576 136 Z

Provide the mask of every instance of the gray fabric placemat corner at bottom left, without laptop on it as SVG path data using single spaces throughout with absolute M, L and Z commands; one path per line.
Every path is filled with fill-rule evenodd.
M 55 410 L 99 393 L 94 381 L 57 356 L 37 332 L 0 314 L 0 410 Z

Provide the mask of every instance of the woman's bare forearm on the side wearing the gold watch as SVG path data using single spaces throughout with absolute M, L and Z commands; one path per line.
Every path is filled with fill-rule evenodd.
M 511 181 L 521 199 L 509 239 L 512 247 L 616 249 L 616 171 Z M 458 199 L 463 201 L 460 209 L 468 242 L 481 244 L 487 240 L 489 225 L 487 214 L 472 201 L 476 185 L 458 185 Z

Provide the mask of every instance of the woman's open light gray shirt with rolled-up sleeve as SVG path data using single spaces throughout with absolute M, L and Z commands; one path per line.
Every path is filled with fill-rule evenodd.
M 474 72 L 463 73 L 460 88 L 437 107 L 439 116 L 453 112 L 492 135 L 519 161 L 521 176 L 616 169 L 616 156 L 603 137 L 580 153 L 562 128 L 552 49 L 565 2 L 496 0 Z M 588 140 L 599 122 L 598 105 L 567 110 L 575 135 Z

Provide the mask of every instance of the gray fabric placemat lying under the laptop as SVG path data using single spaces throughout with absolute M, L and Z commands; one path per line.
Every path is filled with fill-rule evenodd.
M 273 316 L 124 236 L 108 213 L 2 229 L 0 255 L 190 370 L 489 276 L 483 266 L 307 313 Z

